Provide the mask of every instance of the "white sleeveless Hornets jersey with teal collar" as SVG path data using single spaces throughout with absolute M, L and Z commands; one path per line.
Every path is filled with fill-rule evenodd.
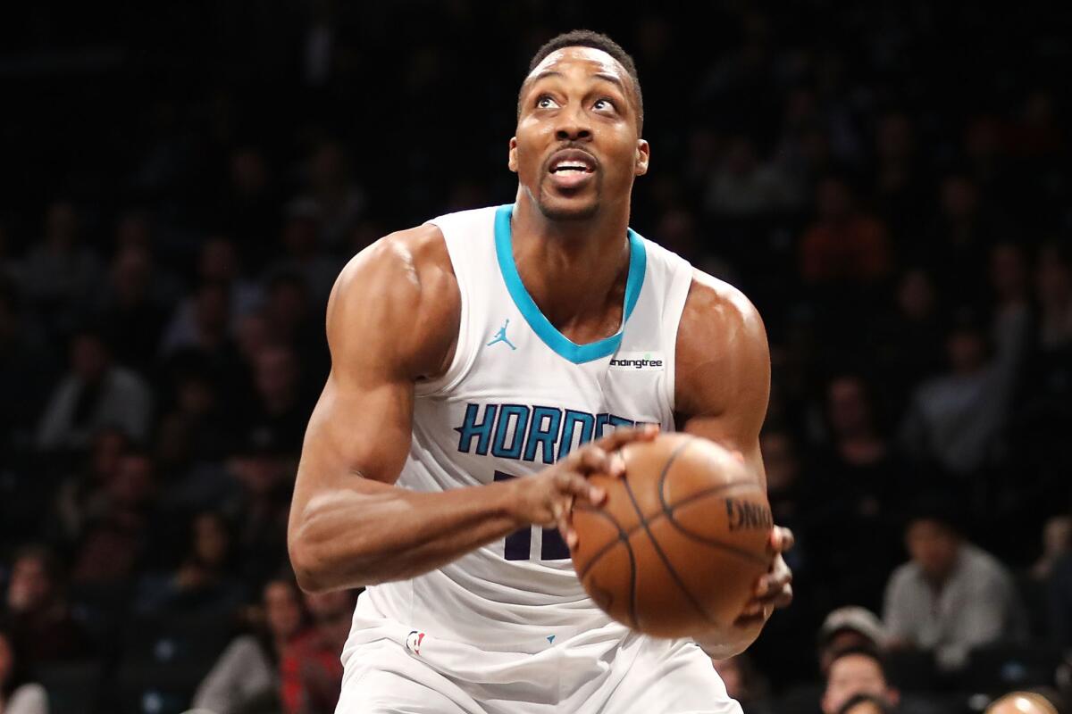
M 683 258 L 631 229 L 623 324 L 576 345 L 533 302 L 513 262 L 512 206 L 441 216 L 461 292 L 453 361 L 418 383 L 398 485 L 419 491 L 536 473 L 621 425 L 673 429 L 674 345 L 691 283 Z M 539 652 L 584 632 L 624 636 L 584 593 L 556 529 L 527 528 L 426 575 L 370 587 L 347 648 L 427 636 Z

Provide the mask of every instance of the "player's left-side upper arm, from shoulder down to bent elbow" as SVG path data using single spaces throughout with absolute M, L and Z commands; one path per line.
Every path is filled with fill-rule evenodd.
M 354 477 L 390 484 L 405 464 L 414 385 L 442 364 L 457 330 L 438 314 L 451 300 L 435 265 L 415 260 L 385 239 L 339 277 L 327 315 L 331 373 L 309 421 L 296 500 Z

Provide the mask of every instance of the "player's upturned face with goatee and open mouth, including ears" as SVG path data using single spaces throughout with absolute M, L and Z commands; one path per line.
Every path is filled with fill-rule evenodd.
M 509 166 L 548 218 L 585 219 L 627 206 L 647 155 L 632 80 L 607 52 L 566 47 L 525 79 Z

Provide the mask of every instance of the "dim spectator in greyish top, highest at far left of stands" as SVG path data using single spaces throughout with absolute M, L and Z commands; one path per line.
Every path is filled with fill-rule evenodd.
M 96 255 L 81 244 L 81 219 L 74 203 L 54 201 L 45 215 L 44 236 L 23 263 L 23 293 L 49 326 L 62 332 L 98 289 L 102 273 Z

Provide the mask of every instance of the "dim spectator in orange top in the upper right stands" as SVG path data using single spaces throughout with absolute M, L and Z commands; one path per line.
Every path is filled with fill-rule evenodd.
M 801 240 L 800 275 L 808 285 L 870 285 L 890 271 L 885 228 L 857 208 L 844 179 L 817 188 L 818 221 Z

